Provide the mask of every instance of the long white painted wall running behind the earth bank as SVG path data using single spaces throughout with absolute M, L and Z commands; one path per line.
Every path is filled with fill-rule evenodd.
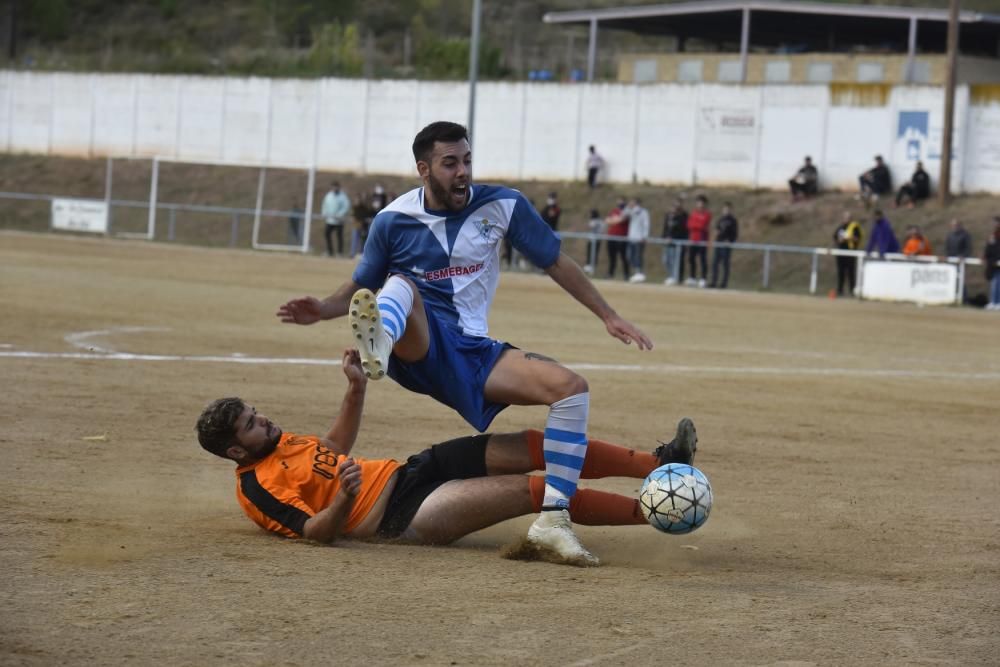
M 0 150 L 413 173 L 434 120 L 464 122 L 464 83 L 0 71 Z M 476 176 L 578 180 L 590 144 L 612 182 L 784 188 L 810 155 L 853 189 L 881 154 L 898 185 L 940 164 L 943 91 L 900 86 L 881 106 L 827 86 L 480 83 Z M 905 122 L 904 122 L 905 119 Z M 956 99 L 956 191 L 1000 193 L 1000 104 Z M 906 127 L 911 129 L 907 132 Z

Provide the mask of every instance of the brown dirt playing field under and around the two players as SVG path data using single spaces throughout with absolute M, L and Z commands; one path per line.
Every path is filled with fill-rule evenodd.
M 577 569 L 498 556 L 530 517 L 431 548 L 243 516 L 194 421 L 235 394 L 325 430 L 345 323 L 274 311 L 352 266 L 0 233 L 0 664 L 997 664 L 1000 315 L 599 283 L 656 342 L 640 353 L 506 275 L 492 333 L 580 370 L 596 437 L 652 448 L 693 417 L 715 491 L 688 536 L 580 528 L 604 564 Z M 469 432 L 384 381 L 355 451 Z

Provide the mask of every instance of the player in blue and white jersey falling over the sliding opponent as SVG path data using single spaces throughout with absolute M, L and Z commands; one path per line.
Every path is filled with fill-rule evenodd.
M 472 183 L 463 126 L 428 125 L 413 141 L 413 157 L 424 185 L 375 217 L 352 279 L 322 301 L 293 299 L 277 315 L 312 324 L 349 313 L 366 375 L 377 380 L 388 374 L 454 408 L 480 431 L 508 405 L 548 405 L 545 497 L 528 541 L 550 560 L 597 565 L 567 511 L 587 450 L 587 381 L 488 335 L 504 238 L 597 315 L 609 334 L 640 350 L 653 344 L 561 252 L 559 238 L 520 192 Z M 694 428 L 690 420 L 682 423 L 688 426 L 662 448 L 664 462 L 693 456 Z

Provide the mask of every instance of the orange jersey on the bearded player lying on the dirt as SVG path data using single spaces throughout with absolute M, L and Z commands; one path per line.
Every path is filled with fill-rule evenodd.
M 345 458 L 314 435 L 285 433 L 270 455 L 236 469 L 236 499 L 262 528 L 301 537 L 306 520 L 326 509 L 337 495 L 337 466 Z M 354 460 L 361 466 L 361 491 L 347 516 L 345 534 L 367 516 L 401 465 L 391 459 Z

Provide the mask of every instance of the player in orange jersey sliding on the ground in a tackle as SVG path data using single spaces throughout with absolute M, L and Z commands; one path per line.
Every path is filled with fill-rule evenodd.
M 545 478 L 526 473 L 545 469 L 541 431 L 458 438 L 405 463 L 355 458 L 367 382 L 357 350 L 345 350 L 343 370 L 348 388 L 325 436 L 285 433 L 239 398 L 213 401 L 199 417 L 199 442 L 236 462 L 237 499 L 258 525 L 326 543 L 382 537 L 448 544 L 539 511 Z M 663 463 L 690 463 L 696 448 L 689 419 L 651 453 L 590 440 L 581 476 L 642 479 Z M 579 490 L 569 511 L 584 525 L 645 523 L 637 499 L 593 489 Z

